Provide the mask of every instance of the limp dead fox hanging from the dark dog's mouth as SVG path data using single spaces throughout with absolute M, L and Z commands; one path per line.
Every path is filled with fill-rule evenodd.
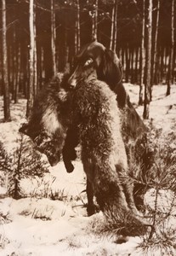
M 77 127 L 83 168 L 100 209 L 124 212 L 130 221 L 144 227 L 136 217 L 116 95 L 107 84 L 95 78 L 96 74 L 86 82 L 80 81 L 70 92 L 57 83 L 50 84 L 38 96 L 29 123 L 20 131 L 30 136 L 37 150 L 50 161 L 54 158 L 56 164 L 66 132 L 69 127 Z M 143 231 L 136 230 L 135 234 Z

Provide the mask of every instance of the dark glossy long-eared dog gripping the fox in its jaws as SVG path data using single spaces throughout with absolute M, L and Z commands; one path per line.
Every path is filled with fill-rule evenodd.
M 122 110 L 122 130 L 124 137 L 136 140 L 147 130 L 139 114 L 133 108 L 127 91 L 122 84 L 122 64 L 111 49 L 106 49 L 103 44 L 93 42 L 86 44 L 75 58 L 75 67 L 68 84 L 74 88 L 82 79 L 82 73 L 89 72 L 89 67 L 94 67 L 97 78 L 108 84 L 116 94 L 118 108 Z M 88 63 L 88 65 L 85 65 Z M 127 139 L 127 138 L 126 138 Z

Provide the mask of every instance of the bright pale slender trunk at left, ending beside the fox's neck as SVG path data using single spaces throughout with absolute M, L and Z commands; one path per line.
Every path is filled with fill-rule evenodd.
M 34 0 L 30 0 L 29 3 L 29 26 L 30 26 L 30 55 L 29 55 L 29 86 L 27 93 L 27 109 L 26 117 L 29 117 L 31 114 L 31 108 L 33 106 L 33 85 L 34 85 L 34 9 L 33 9 Z

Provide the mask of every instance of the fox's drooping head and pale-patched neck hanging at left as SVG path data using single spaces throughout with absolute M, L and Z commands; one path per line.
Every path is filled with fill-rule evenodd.
M 59 162 L 64 147 L 67 107 L 66 91 L 52 84 L 37 96 L 28 123 L 19 130 L 31 137 L 34 147 L 46 154 L 51 166 Z

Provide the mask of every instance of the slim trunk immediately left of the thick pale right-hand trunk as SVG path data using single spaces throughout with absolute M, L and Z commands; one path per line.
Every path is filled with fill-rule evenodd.
M 144 102 L 144 75 L 145 75 L 145 0 L 142 10 L 142 39 L 140 46 L 140 82 L 139 82 L 139 105 Z

